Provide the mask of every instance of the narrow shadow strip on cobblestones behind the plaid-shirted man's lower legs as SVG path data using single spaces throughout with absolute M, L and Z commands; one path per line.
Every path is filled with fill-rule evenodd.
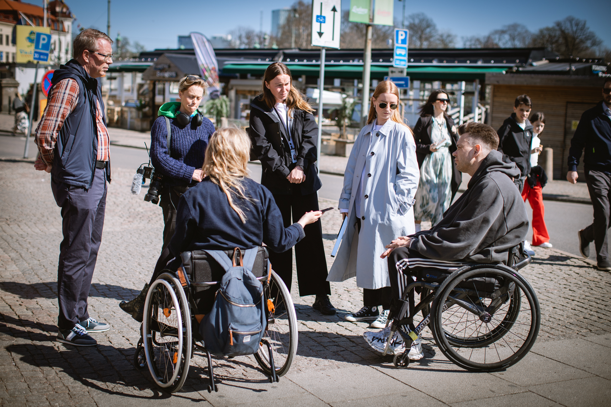
M 34 298 L 57 298 L 57 282 L 48 283 L 14 283 L 4 281 L 0 283 L 0 289 L 11 294 L 18 295 L 21 299 L 32 300 Z M 140 293 L 140 290 L 123 288 L 112 284 L 91 284 L 89 297 L 114 298 L 115 300 L 131 300 Z

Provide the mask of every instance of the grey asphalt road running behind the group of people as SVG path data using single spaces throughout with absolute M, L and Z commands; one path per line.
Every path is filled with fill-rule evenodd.
M 33 140 L 30 139 L 29 156 L 34 157 L 37 148 Z M 0 136 L 0 157 L 23 157 L 24 137 Z M 112 167 L 115 168 L 136 168 L 148 162 L 147 152 L 144 149 L 119 147 L 111 145 Z M 249 164 L 251 178 L 255 181 L 261 179 L 261 166 Z M 337 175 L 320 175 L 323 187 L 318 192 L 321 198 L 337 201 L 342 191 L 343 178 Z M 545 222 L 551 237 L 550 242 L 555 248 L 568 253 L 579 255 L 579 240 L 577 231 L 590 225 L 593 219 L 591 205 L 566 203 L 557 201 L 544 201 L 545 203 Z M 532 220 L 532 209 L 527 204 L 529 220 Z M 527 239 L 532 239 L 532 228 L 529 228 Z M 594 244 L 590 245 L 591 259 L 596 259 Z M 535 248 L 536 252 L 536 248 Z

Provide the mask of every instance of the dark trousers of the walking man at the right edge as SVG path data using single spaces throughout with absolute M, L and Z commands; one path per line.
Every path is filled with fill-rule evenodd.
M 590 199 L 594 207 L 594 222 L 584 229 L 588 242 L 594 241 L 596 261 L 608 260 L 607 229 L 609 229 L 609 202 L 611 200 L 611 176 L 602 171 L 585 170 Z

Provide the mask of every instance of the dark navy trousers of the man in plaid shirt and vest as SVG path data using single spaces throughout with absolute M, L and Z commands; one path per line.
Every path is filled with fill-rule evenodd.
M 51 179 L 57 206 L 62 208 L 64 240 L 57 265 L 57 327 L 70 330 L 87 320 L 87 297 L 102 241 L 106 210 L 106 170 L 96 168 L 88 190 Z

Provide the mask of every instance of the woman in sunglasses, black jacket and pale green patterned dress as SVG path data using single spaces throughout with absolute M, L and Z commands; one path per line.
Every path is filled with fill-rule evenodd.
M 420 107 L 420 117 L 414 126 L 420 167 L 420 184 L 414 206 L 417 232 L 423 220 L 430 220 L 434 226 L 444 217 L 463 179 L 452 157 L 458 133 L 454 121 L 447 114 L 449 103 L 447 93 L 441 89 L 433 90 L 426 104 Z

